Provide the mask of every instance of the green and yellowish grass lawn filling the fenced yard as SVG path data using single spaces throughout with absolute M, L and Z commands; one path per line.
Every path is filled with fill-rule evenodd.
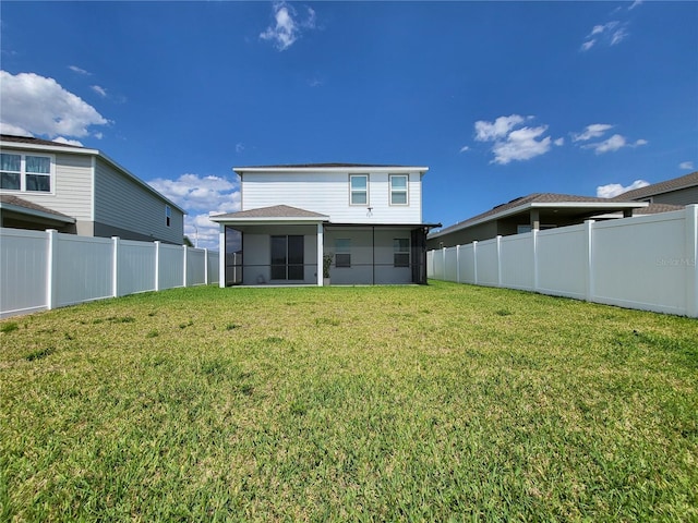
M 1 521 L 698 521 L 698 321 L 429 287 L 0 321 Z

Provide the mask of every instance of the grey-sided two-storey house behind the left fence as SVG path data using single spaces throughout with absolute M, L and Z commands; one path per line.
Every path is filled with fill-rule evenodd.
M 181 245 L 184 214 L 99 150 L 0 136 L 2 227 Z

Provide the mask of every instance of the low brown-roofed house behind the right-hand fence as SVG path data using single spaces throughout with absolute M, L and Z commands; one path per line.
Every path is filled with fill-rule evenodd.
M 428 248 L 466 245 L 489 240 L 555 227 L 582 223 L 589 219 L 610 219 L 633 216 L 650 207 L 641 202 L 616 202 L 609 198 L 575 196 L 569 194 L 534 193 L 498 205 L 485 212 L 429 234 Z M 664 208 L 665 207 L 665 208 Z M 662 206 L 654 211 L 673 210 Z

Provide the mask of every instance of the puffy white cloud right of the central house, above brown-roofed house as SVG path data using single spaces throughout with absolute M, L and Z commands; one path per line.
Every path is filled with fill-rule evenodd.
M 547 125 L 537 127 L 520 127 L 520 124 L 533 117 L 510 114 L 500 117 L 494 122 L 479 120 L 474 124 L 477 142 L 493 142 L 493 163 L 505 166 L 514 160 L 530 160 L 544 155 L 551 149 L 552 138 L 543 136 Z M 555 141 L 555 145 L 563 145 L 562 138 Z M 462 151 L 462 149 L 461 149 Z

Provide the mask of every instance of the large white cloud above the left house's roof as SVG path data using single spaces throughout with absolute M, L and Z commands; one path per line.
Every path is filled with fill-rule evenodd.
M 53 78 L 0 71 L 0 121 L 29 134 L 87 136 L 91 125 L 109 123 L 91 105 L 63 89 Z

